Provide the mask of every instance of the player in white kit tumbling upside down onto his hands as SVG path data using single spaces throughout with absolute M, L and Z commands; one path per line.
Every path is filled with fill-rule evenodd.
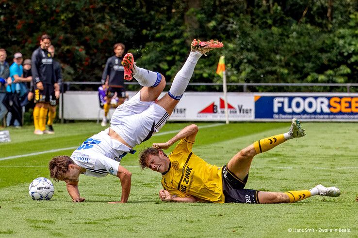
M 120 179 L 122 186 L 121 200 L 111 203 L 127 202 L 131 173 L 120 165 L 121 159 L 128 153 L 134 153 L 133 147 L 163 127 L 183 96 L 198 59 L 210 50 L 221 47 L 223 44 L 218 41 L 194 40 L 189 57 L 174 77 L 169 92 L 156 102 L 165 87 L 164 76 L 139 68 L 135 65 L 133 55 L 126 54 L 122 61 L 124 79 L 131 80 L 134 77 L 144 87 L 115 109 L 110 128 L 88 138 L 71 157 L 53 157 L 49 162 L 50 177 L 55 181 L 66 182 L 73 202 L 83 202 L 85 198 L 80 196 L 78 189 L 80 174 L 94 177 L 111 174 Z

